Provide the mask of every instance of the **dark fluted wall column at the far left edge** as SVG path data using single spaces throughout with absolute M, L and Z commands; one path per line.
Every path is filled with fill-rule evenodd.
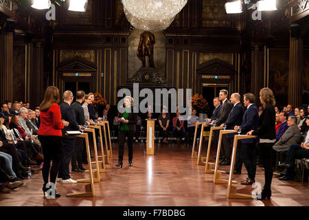
M 0 102 L 13 99 L 13 33 L 0 30 Z

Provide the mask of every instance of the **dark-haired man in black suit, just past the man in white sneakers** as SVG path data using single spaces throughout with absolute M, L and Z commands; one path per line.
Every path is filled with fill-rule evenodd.
M 86 123 L 86 120 L 84 119 L 84 109 L 82 108 L 82 102 L 84 102 L 84 91 L 78 91 L 76 93 L 76 102 L 71 104 L 71 108 L 76 115 L 76 122 L 78 123 L 78 125 L 84 125 Z M 86 170 L 82 167 L 83 146 L 84 138 L 76 137 L 71 159 L 73 172 L 82 172 L 83 170 Z M 78 166 L 76 164 L 76 161 L 78 163 Z

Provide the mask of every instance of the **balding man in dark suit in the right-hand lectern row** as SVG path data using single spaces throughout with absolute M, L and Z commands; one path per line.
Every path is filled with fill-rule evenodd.
M 244 109 L 240 103 L 240 94 L 231 94 L 231 104 L 233 104 L 233 109 L 231 109 L 227 122 L 227 130 L 233 130 L 234 126 L 242 124 L 242 115 L 244 115 Z M 229 165 L 231 164 L 231 139 L 236 133 L 222 135 L 222 161 L 219 165 Z

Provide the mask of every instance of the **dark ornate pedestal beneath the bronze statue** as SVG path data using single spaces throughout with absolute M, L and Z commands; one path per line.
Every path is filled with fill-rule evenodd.
M 166 80 L 160 76 L 158 70 L 153 67 L 141 67 L 139 71 L 132 77 L 129 78 L 128 83 L 155 83 L 165 84 Z

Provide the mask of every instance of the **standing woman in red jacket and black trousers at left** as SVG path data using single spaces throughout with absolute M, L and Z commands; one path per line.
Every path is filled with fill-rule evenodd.
M 41 124 L 38 129 L 38 140 L 40 140 L 44 155 L 44 164 L 42 175 L 44 180 L 43 192 L 49 190 L 52 186 L 52 197 L 60 197 L 56 192 L 55 182 L 58 175 L 59 165 L 62 157 L 62 131 L 64 126 L 68 126 L 69 122 L 61 120 L 61 111 L 58 105 L 59 90 L 57 87 L 48 87 L 45 91 L 45 97 L 40 104 Z M 53 161 L 52 168 L 50 162 Z M 50 168 L 50 183 L 48 181 Z M 52 184 L 51 184 L 52 183 Z M 47 185 L 48 184 L 48 185 Z M 54 185 L 53 185 L 54 184 Z M 54 191 L 53 191 L 54 190 Z M 53 193 L 54 192 L 54 193 Z

